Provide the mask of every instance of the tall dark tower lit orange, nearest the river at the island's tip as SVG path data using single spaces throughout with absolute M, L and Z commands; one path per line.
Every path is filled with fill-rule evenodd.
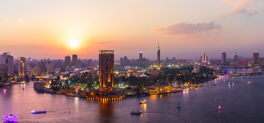
M 99 51 L 99 89 L 114 89 L 114 51 Z

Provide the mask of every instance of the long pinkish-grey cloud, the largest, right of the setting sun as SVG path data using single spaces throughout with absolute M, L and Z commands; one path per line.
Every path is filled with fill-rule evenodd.
M 161 28 L 155 28 L 152 31 L 160 31 L 160 34 L 175 35 L 175 34 L 194 34 L 207 32 L 210 30 L 216 30 L 217 34 L 222 33 L 222 26 L 216 24 L 215 21 L 210 23 L 186 23 L 180 22 L 167 27 L 162 26 Z M 211 35 L 211 34 L 210 34 Z

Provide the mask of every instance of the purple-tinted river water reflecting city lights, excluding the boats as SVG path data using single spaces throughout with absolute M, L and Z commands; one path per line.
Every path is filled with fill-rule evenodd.
M 21 84 L 1 88 L 1 91 L 7 91 L 0 94 L 0 116 L 13 114 L 19 117 L 16 120 L 18 123 L 264 122 L 263 79 L 263 75 L 221 77 L 203 83 L 202 87 L 191 87 L 186 92 L 114 100 L 49 94 L 34 89 L 33 82 L 29 82 L 27 86 Z M 214 86 L 214 83 L 217 85 Z M 147 103 L 139 104 L 141 100 Z M 180 108 L 176 107 L 178 103 Z M 31 114 L 32 110 L 46 110 L 47 113 Z M 142 110 L 143 113 L 130 114 L 129 111 L 135 110 Z M 5 121 L 2 118 L 0 122 Z

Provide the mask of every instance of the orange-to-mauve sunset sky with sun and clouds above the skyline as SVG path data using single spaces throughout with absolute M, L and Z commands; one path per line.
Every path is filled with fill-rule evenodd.
M 2 52 L 14 58 L 264 57 L 264 0 L 8 0 L 0 4 Z

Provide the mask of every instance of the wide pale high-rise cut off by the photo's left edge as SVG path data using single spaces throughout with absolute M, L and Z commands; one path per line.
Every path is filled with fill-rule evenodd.
M 4 68 L 5 75 L 13 74 L 13 56 L 10 53 L 7 52 L 0 55 L 0 68 Z

